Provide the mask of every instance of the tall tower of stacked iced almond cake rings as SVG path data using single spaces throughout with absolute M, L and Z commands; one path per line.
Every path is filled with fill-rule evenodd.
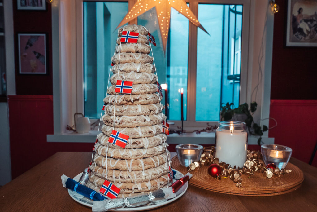
M 123 31 L 138 32 L 137 43 L 121 43 Z M 118 45 L 111 58 L 112 85 L 107 89 L 105 114 L 101 117 L 104 125 L 90 166 L 87 187 L 99 192 L 107 180 L 121 189 L 118 197 L 156 190 L 167 186 L 169 180 L 170 153 L 162 132 L 166 117 L 162 114 L 162 97 L 157 93 L 153 58 L 148 55 L 151 47 L 147 35 L 140 25 L 118 30 Z M 115 93 L 117 80 L 133 81 L 131 94 Z M 125 148 L 108 142 L 113 130 L 129 136 Z

